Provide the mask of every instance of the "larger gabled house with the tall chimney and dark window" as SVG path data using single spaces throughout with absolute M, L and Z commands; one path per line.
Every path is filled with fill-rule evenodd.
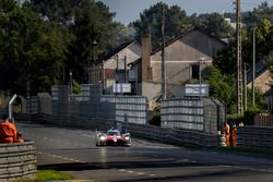
M 203 71 L 212 64 L 216 52 L 226 43 L 210 36 L 199 28 L 186 29 L 165 46 L 167 93 L 182 96 L 182 85 L 200 80 Z M 142 57 L 130 64 L 135 73 L 132 80 L 136 95 L 156 100 L 162 94 L 162 48 L 151 52 L 150 37 L 142 39 Z M 133 87 L 133 86 L 132 86 Z

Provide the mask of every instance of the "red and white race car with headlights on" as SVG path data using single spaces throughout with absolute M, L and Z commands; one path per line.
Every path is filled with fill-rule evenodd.
M 96 146 L 131 146 L 130 133 L 121 134 L 120 131 L 110 129 L 106 133 L 96 132 Z

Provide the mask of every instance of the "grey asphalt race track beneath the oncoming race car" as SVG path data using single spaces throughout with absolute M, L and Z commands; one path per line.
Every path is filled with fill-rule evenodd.
M 35 141 L 38 169 L 117 182 L 272 182 L 273 156 L 186 149 L 132 138 L 131 147 L 96 147 L 94 132 L 16 123 Z

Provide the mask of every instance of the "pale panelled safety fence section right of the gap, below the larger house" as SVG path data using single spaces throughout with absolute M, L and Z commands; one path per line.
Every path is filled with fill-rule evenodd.
M 182 97 L 162 101 L 162 126 L 217 134 L 226 121 L 226 107 L 218 99 Z

